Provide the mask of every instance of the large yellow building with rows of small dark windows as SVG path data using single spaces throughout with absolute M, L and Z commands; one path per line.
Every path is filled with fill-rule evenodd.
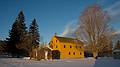
M 84 58 L 83 42 L 78 39 L 59 37 L 55 34 L 49 45 L 52 48 L 52 59 Z

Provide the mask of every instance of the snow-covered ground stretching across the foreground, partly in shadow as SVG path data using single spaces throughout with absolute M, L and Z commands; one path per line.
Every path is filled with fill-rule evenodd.
M 120 67 L 120 60 L 112 58 L 85 58 L 81 60 L 25 60 L 21 58 L 0 58 L 0 67 Z

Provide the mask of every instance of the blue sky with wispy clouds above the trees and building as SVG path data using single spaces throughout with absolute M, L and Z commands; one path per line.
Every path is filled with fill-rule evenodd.
M 88 6 L 99 4 L 112 17 L 112 26 L 120 29 L 119 0 L 0 0 L 0 39 L 9 35 L 9 30 L 22 10 L 26 26 L 35 18 L 39 25 L 41 41 L 49 42 L 54 33 L 59 36 L 76 28 L 79 17 Z

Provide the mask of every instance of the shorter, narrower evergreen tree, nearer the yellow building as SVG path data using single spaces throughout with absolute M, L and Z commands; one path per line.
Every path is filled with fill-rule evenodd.
M 31 37 L 31 45 L 33 48 L 39 46 L 40 35 L 38 31 L 38 24 L 36 23 L 36 19 L 34 19 L 29 27 L 29 35 Z

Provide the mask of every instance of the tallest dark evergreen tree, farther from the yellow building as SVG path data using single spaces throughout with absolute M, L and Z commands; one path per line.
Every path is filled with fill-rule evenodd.
M 9 32 L 8 44 L 9 50 L 14 56 L 15 54 L 25 55 L 25 38 L 27 36 L 27 27 L 25 25 L 25 18 L 22 11 L 18 14 L 15 22 L 12 25 L 12 29 Z

